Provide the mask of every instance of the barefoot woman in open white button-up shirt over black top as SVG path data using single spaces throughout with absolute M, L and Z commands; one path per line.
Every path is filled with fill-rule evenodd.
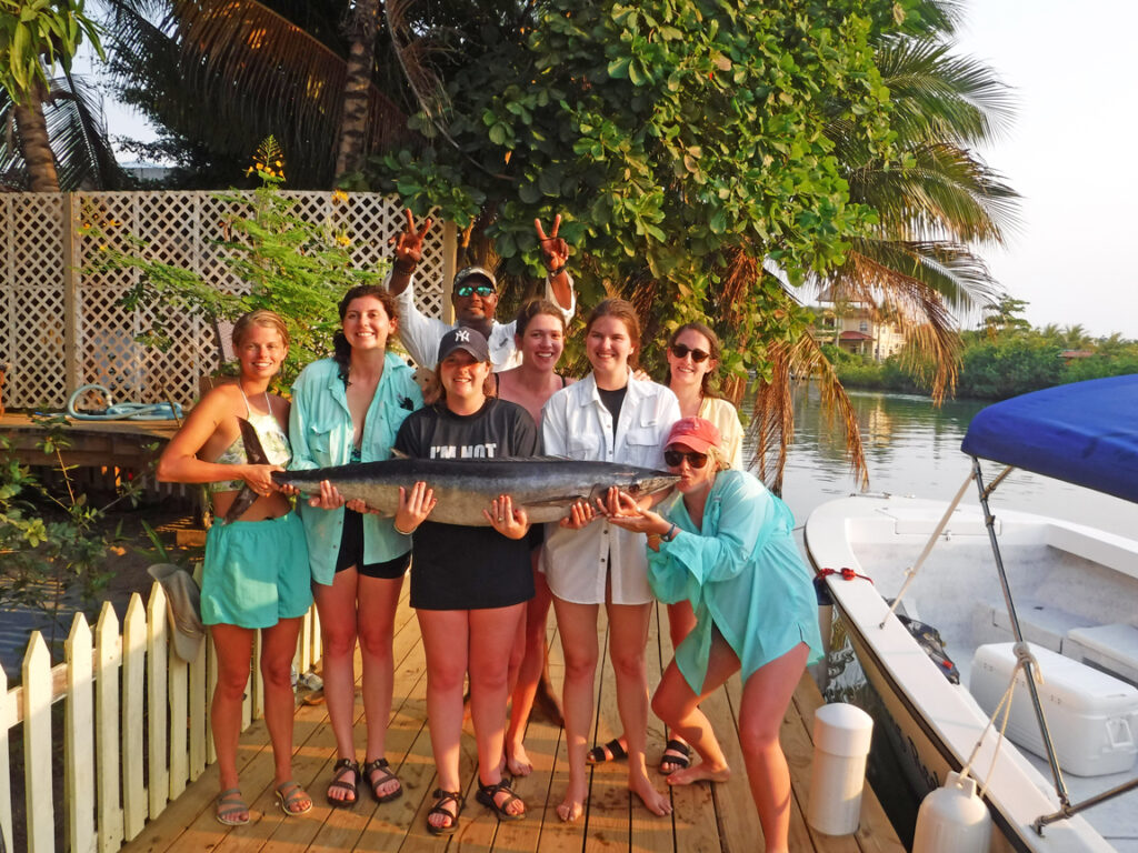
M 585 350 L 593 371 L 545 404 L 545 453 L 662 467 L 663 439 L 679 420 L 679 404 L 663 386 L 632 375 L 640 338 L 640 318 L 629 303 L 605 299 L 593 309 L 585 326 Z M 644 648 L 652 602 L 644 537 L 611 525 L 584 502 L 559 525 L 550 524 L 546 533 L 543 563 L 566 656 L 569 788 L 558 814 L 571 821 L 585 810 L 602 605 L 609 616 L 617 706 L 628 740 L 628 787 L 650 811 L 668 814 L 670 802 L 649 779 L 644 757 L 649 704 Z

